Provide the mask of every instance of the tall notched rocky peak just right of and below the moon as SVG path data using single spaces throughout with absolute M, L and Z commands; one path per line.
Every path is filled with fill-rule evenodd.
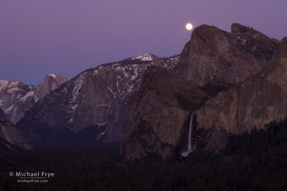
M 240 24 L 231 29 L 196 27 L 181 53 L 178 73 L 199 86 L 211 80 L 238 85 L 266 68 L 279 41 Z

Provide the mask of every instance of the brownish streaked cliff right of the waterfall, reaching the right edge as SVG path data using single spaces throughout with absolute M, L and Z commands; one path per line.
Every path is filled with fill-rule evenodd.
M 209 99 L 197 114 L 198 127 L 242 134 L 287 117 L 287 37 L 267 68 L 239 86 Z

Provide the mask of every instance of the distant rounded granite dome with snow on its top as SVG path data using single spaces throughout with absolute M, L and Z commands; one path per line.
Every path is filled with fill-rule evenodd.
M 36 97 L 39 99 L 43 98 L 48 93 L 54 91 L 63 83 L 66 83 L 68 80 L 62 75 L 59 74 L 46 74 L 44 82 L 37 86 L 35 91 Z

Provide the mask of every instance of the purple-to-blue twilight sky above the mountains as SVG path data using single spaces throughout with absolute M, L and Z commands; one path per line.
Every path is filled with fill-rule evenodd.
M 0 78 L 27 85 L 146 52 L 181 53 L 201 24 L 232 23 L 281 40 L 287 0 L 0 0 Z

